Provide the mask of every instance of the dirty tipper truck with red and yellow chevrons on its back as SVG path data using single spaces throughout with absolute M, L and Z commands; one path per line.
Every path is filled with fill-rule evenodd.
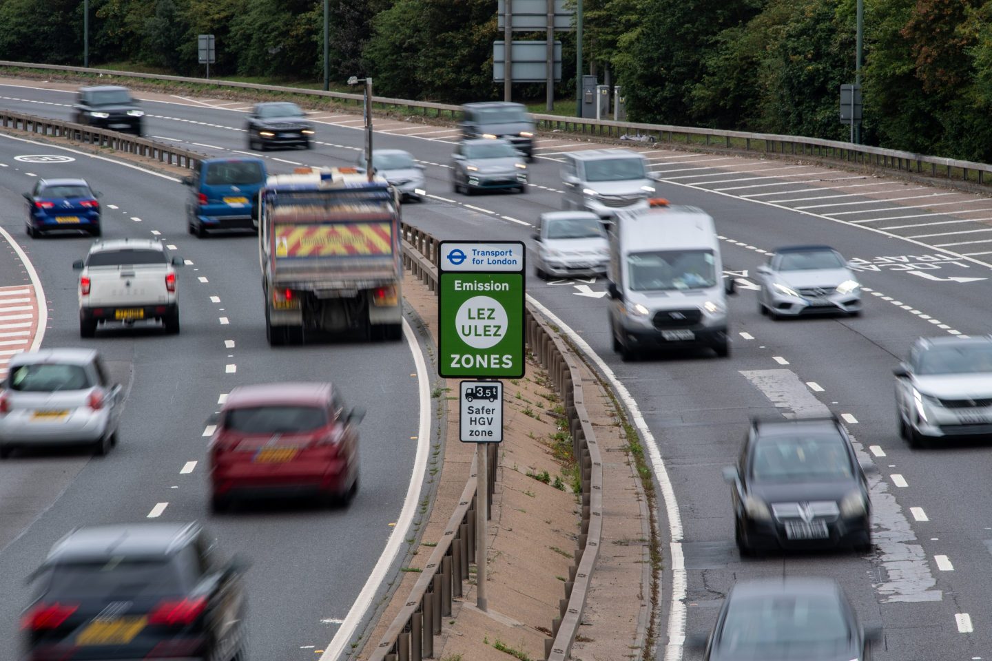
M 258 208 L 271 346 L 328 335 L 402 338 L 400 202 L 385 179 L 298 167 L 268 177 Z

